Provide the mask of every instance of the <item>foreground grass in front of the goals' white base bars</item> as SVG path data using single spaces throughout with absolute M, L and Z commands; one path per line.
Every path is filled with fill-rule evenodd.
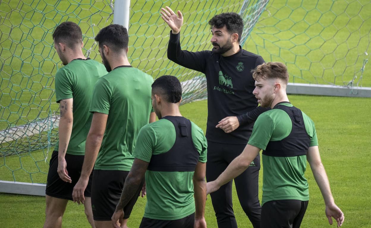
M 368 110 L 369 98 L 339 98 L 325 96 L 290 95 L 290 101 L 309 115 L 316 125 L 322 163 L 332 188 L 336 204 L 345 214 L 344 227 L 369 227 L 371 208 L 370 137 L 371 120 Z M 181 106 L 181 113 L 206 130 L 207 101 Z M 210 152 L 209 152 L 210 153 Z M 16 159 L 18 160 L 18 159 Z M 4 170 L 1 170 L 1 175 Z M 260 194 L 262 196 L 262 170 L 260 171 Z M 44 177 L 46 179 L 46 175 Z M 310 200 L 302 227 L 327 227 L 324 202 L 309 165 L 306 178 L 309 182 Z M 42 227 L 45 219 L 45 197 L 0 194 L 3 227 Z M 144 213 L 145 198 L 139 198 L 129 220 L 129 227 L 139 226 Z M 234 212 L 241 228 L 252 227 L 233 192 Z M 211 201 L 206 204 L 208 227 L 217 227 Z M 63 227 L 89 227 L 83 207 L 70 202 L 63 219 Z

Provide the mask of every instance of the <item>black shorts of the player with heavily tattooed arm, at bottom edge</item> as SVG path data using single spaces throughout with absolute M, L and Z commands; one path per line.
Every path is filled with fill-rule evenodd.
M 142 218 L 139 228 L 193 228 L 194 213 L 177 220 Z

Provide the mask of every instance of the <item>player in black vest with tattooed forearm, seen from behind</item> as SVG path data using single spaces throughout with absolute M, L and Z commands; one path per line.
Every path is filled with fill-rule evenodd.
M 181 95 L 174 76 L 152 84 L 152 106 L 160 120 L 139 132 L 134 164 L 112 216 L 116 228 L 144 175 L 148 194 L 140 228 L 206 227 L 207 142 L 200 127 L 181 115 Z

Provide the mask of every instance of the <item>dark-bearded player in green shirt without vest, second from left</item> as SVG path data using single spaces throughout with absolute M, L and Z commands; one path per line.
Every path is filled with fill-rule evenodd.
M 105 228 L 112 227 L 111 216 L 134 161 L 132 152 L 139 130 L 150 119 L 154 121 L 155 114 L 151 113 L 152 76 L 130 65 L 126 28 L 118 24 L 108 25 L 99 31 L 95 40 L 109 73 L 94 86 L 90 106 L 90 112 L 94 114 L 86 139 L 85 159 L 72 196 L 75 202 L 84 203 L 83 191 L 94 167 L 93 218 L 97 228 Z M 138 195 L 141 188 L 136 189 Z M 123 227 L 127 227 L 127 219 L 138 195 L 132 197 L 124 208 Z

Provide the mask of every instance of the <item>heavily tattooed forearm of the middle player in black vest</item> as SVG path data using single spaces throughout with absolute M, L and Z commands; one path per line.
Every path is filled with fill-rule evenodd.
M 148 162 L 140 159 L 134 159 L 133 166 L 125 180 L 124 189 L 121 198 L 116 206 L 116 211 L 122 210 L 135 193 L 142 188 L 142 180 L 148 167 Z

